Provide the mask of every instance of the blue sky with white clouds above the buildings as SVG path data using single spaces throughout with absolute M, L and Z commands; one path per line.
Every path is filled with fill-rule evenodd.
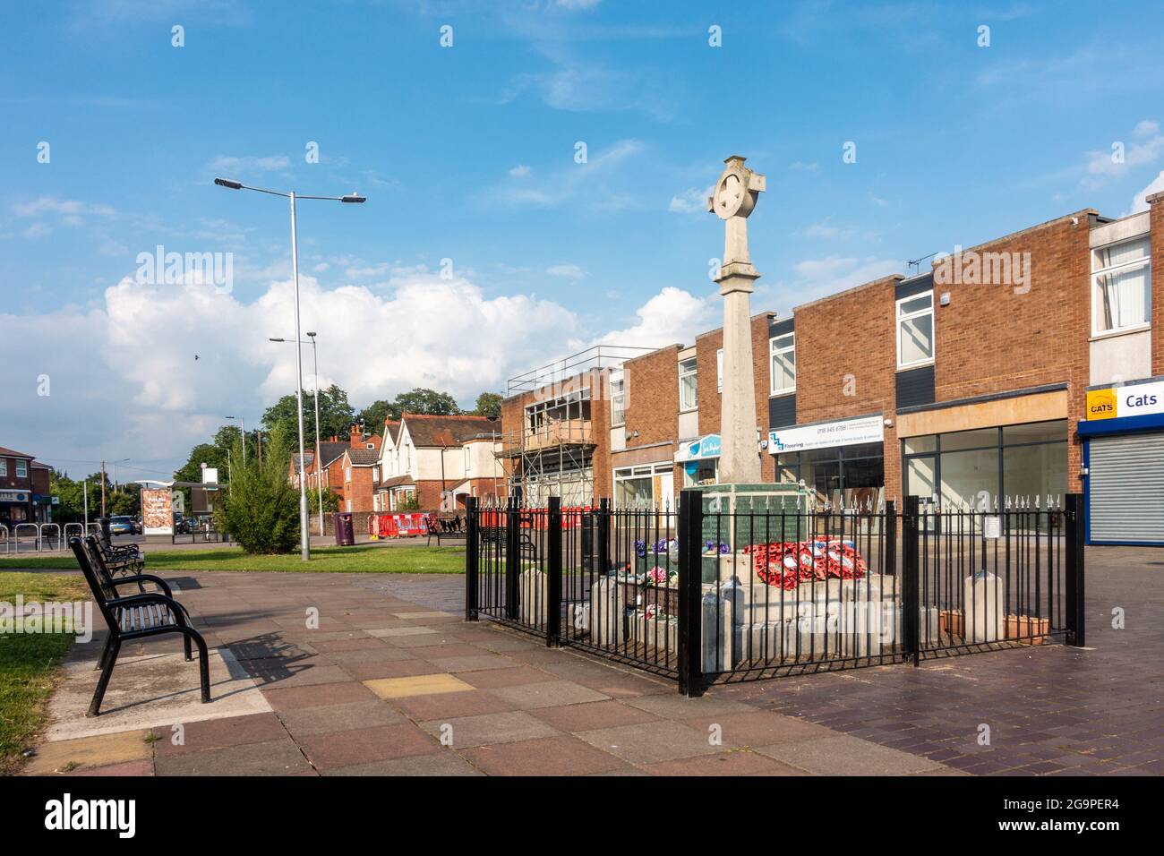
M 215 175 L 367 194 L 299 210 L 321 379 L 357 405 L 417 384 L 469 404 L 574 347 L 717 326 L 722 225 L 701 200 L 730 154 L 768 178 L 755 311 L 1083 207 L 1130 212 L 1164 189 L 1144 36 L 1162 24 L 1158 3 L 13 6 L 0 339 L 29 356 L 6 370 L 0 445 L 164 473 L 223 413 L 257 422 L 293 389 L 293 353 L 265 341 L 291 333 L 285 203 Z M 229 293 L 136 282 L 158 245 L 233 254 Z

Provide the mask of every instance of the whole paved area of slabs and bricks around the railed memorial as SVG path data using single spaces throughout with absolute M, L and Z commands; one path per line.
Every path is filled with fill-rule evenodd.
M 719 685 L 700 699 L 463 622 L 457 575 L 168 573 L 217 651 L 214 701 L 198 703 L 179 641 L 150 641 L 86 720 L 100 637 L 74 645 L 27 772 L 1164 772 L 1164 553 L 1095 547 L 1087 563 L 1086 650 Z

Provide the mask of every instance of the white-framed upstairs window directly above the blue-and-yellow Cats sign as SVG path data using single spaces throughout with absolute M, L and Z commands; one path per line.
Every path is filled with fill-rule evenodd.
M 1092 335 L 1149 326 L 1150 252 L 1147 236 L 1092 252 Z

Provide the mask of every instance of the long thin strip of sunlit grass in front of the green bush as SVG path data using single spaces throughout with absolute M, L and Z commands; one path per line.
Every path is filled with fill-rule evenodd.
M 76 570 L 72 553 L 0 558 L 5 568 Z M 464 547 L 352 546 L 312 547 L 311 561 L 299 553 L 289 556 L 247 556 L 241 547 L 212 550 L 171 550 L 146 553 L 150 571 L 283 571 L 293 573 L 350 574 L 461 574 Z

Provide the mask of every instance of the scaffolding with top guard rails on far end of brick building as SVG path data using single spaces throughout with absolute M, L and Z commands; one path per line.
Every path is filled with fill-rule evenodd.
M 544 505 L 551 496 L 567 507 L 594 502 L 598 436 L 591 408 L 611 399 L 611 372 L 650 351 L 595 346 L 509 380 L 510 397 L 523 398 L 520 426 L 505 426 L 496 455 L 504 461 L 511 496 L 520 494 L 531 505 Z

